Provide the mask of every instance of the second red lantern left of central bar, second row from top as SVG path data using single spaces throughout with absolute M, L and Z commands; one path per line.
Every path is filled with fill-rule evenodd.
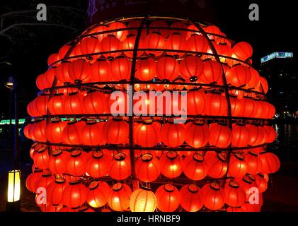
M 101 41 L 101 51 L 102 52 L 110 52 L 105 53 L 103 56 L 108 57 L 108 59 L 114 59 L 114 57 L 117 57 L 120 55 L 118 51 L 122 48 L 122 43 L 120 40 L 118 40 L 115 35 L 108 35 L 107 37 L 104 37 Z

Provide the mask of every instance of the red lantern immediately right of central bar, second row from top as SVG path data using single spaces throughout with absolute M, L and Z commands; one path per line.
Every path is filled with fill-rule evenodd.
M 164 49 L 166 42 L 164 37 L 159 33 L 150 33 L 147 35 L 140 44 L 140 49 Z M 160 57 L 164 52 L 156 50 L 147 50 L 145 51 L 148 55 L 154 55 L 155 57 Z

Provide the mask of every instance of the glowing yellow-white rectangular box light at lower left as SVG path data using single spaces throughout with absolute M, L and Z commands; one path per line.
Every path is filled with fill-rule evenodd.
M 8 172 L 8 191 L 7 201 L 8 203 L 14 203 L 20 200 L 21 192 L 21 171 L 11 170 Z

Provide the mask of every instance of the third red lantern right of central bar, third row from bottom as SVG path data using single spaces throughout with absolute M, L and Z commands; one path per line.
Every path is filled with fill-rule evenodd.
M 210 132 L 207 125 L 197 121 L 188 126 L 185 134 L 185 142 L 193 148 L 201 148 L 207 145 L 209 137 Z

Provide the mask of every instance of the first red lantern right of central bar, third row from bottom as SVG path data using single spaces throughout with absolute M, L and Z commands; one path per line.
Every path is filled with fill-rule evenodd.
M 161 133 L 152 121 L 143 121 L 134 128 L 134 142 L 142 147 L 153 147 L 160 142 Z

